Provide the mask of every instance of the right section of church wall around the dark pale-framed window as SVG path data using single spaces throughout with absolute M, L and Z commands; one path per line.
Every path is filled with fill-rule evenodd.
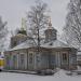
M 68 69 L 69 68 L 69 49 L 55 49 L 52 51 L 51 64 L 54 67 Z

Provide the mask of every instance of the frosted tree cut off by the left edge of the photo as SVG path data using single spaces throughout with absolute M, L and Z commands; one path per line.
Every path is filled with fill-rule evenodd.
M 5 40 L 8 35 L 6 22 L 2 22 L 2 17 L 0 16 L 0 50 L 5 49 Z

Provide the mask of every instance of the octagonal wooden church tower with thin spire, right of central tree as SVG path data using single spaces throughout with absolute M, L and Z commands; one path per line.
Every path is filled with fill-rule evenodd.
M 52 27 L 51 18 L 49 21 L 49 27 L 44 31 L 45 33 L 45 42 L 54 41 L 57 39 L 57 30 Z

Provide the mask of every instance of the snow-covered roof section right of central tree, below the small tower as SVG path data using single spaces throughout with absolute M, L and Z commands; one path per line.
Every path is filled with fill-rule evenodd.
M 71 45 L 64 43 L 63 41 L 59 41 L 59 40 L 54 40 L 48 43 L 43 43 L 41 46 L 43 48 L 72 48 Z

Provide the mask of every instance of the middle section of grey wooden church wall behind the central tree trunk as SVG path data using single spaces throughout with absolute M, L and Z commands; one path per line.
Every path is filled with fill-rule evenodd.
M 29 54 L 32 54 L 32 64 L 30 64 Z M 38 55 L 38 51 L 36 49 L 28 50 L 28 67 L 32 70 L 40 70 L 40 69 L 49 69 L 49 50 L 41 49 Z

